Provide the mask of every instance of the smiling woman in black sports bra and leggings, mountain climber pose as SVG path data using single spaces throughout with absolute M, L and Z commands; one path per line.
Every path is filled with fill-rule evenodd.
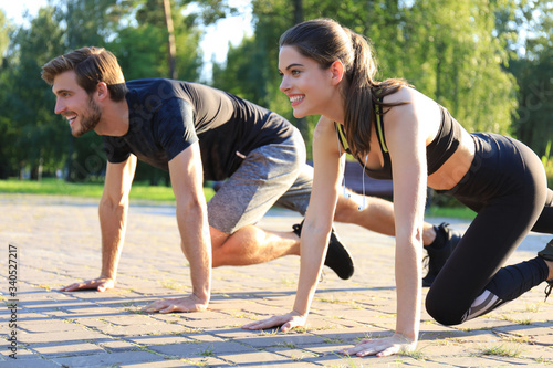
M 553 284 L 553 241 L 539 256 L 500 269 L 530 230 L 553 233 L 553 191 L 543 166 L 523 144 L 469 134 L 448 111 L 401 80 L 374 80 L 366 40 L 332 20 L 306 21 L 280 40 L 281 91 L 294 116 L 321 115 L 313 138 L 314 185 L 301 244 L 294 308 L 244 325 L 282 330 L 305 323 L 316 288 L 347 150 L 369 176 L 394 179 L 396 333 L 341 350 L 388 356 L 414 349 L 419 333 L 421 224 L 426 188 L 476 212 L 430 287 L 426 307 L 456 325 L 514 299 L 543 281 Z

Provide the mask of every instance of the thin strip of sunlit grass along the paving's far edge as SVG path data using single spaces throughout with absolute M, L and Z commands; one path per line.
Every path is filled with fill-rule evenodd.
M 0 193 L 41 194 L 41 196 L 71 196 L 84 198 L 101 198 L 103 182 L 66 182 L 59 179 L 45 178 L 41 182 L 31 180 L 8 179 L 0 180 Z M 213 197 L 211 188 L 204 188 L 206 199 Z M 149 186 L 147 182 L 134 182 L 131 189 L 132 200 L 150 200 L 158 202 L 175 202 L 170 187 Z M 453 218 L 472 220 L 476 213 L 465 207 L 430 207 L 427 212 L 432 218 Z

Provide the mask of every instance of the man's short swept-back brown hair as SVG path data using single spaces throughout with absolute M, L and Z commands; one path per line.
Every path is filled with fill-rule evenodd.
M 107 84 L 109 97 L 123 101 L 128 92 L 117 57 L 104 48 L 82 48 L 49 61 L 42 66 L 42 78 L 53 85 L 54 77 L 74 71 L 76 83 L 91 94 L 100 82 Z

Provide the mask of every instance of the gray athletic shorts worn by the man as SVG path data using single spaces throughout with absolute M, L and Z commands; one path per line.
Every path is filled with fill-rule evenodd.
M 305 164 L 305 143 L 298 129 L 281 144 L 259 147 L 246 156 L 208 203 L 209 224 L 232 234 L 254 224 L 273 204 L 307 210 L 313 168 Z

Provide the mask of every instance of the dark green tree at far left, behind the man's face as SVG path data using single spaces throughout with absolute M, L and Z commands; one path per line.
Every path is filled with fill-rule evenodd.
M 53 15 L 53 8 L 40 9 L 29 29 L 14 32 L 17 46 L 9 51 L 6 74 L 10 93 L 1 102 L 2 106 L 9 106 L 3 108 L 4 118 L 15 137 L 10 144 L 10 159 L 18 166 L 30 167 L 35 179 L 40 179 L 43 167 L 51 169 L 65 155 L 64 126 L 54 118 L 53 94 L 40 78 L 41 66 L 51 55 L 63 51 L 58 42 L 63 40 L 63 32 Z

